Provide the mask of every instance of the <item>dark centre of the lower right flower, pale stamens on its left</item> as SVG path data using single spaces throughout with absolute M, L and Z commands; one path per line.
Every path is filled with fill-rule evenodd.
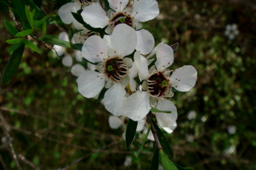
M 152 74 L 148 78 L 148 92 L 154 97 L 161 97 L 164 92 L 168 89 L 168 82 L 170 80 L 166 79 L 162 72 L 157 72 Z

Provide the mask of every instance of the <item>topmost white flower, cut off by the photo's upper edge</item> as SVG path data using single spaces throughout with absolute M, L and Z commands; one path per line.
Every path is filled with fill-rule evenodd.
M 92 27 L 106 26 L 106 33 L 111 34 L 113 28 L 118 24 L 140 29 L 140 22 L 154 19 L 159 14 L 156 0 L 108 0 L 111 9 L 108 13 L 102 9 L 100 4 L 92 3 L 86 6 L 81 13 L 84 21 Z

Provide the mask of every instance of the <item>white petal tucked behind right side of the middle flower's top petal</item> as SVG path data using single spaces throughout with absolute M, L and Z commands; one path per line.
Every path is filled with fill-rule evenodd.
M 150 53 L 155 45 L 154 36 L 146 29 L 136 31 L 136 34 L 138 40 L 136 50 L 140 50 L 141 54 Z

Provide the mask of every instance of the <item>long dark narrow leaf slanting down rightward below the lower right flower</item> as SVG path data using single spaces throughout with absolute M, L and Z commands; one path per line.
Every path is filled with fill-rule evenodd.
M 154 120 L 152 120 L 152 123 L 153 123 L 154 127 L 156 128 L 157 137 L 159 139 L 161 146 L 163 147 L 164 153 L 166 153 L 170 158 L 173 159 L 173 151 L 170 146 L 170 143 L 168 142 L 168 140 L 166 139 L 165 135 L 163 134 L 162 130 L 158 127 L 156 122 Z

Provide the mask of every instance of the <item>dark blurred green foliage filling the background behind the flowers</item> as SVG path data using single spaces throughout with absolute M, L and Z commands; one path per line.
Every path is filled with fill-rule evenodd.
M 68 1 L 35 2 L 52 17 Z M 178 126 L 166 136 L 175 162 L 194 169 L 256 169 L 256 2 L 158 3 L 160 15 L 143 27 L 157 37 L 157 43 L 179 42 L 173 69 L 193 65 L 198 71 L 195 88 L 188 93 L 175 91 L 172 98 Z M 10 58 L 10 45 L 4 41 L 12 38 L 4 19 L 12 21 L 2 5 L 1 73 Z M 229 40 L 225 26 L 233 23 L 239 35 Z M 58 22 L 47 27 L 47 34 L 70 33 L 69 27 Z M 136 157 L 141 144 L 136 135 L 126 150 L 122 129 L 109 128 L 110 113 L 97 100 L 82 97 L 70 68 L 54 52 L 40 47 L 42 54 L 25 50 L 15 76 L 0 89 L 0 111 L 23 169 L 148 169 L 152 142 L 147 141 Z M 2 130 L 0 135 L 3 140 Z M 0 169 L 17 169 L 3 144 L 0 154 Z M 132 157 L 128 167 L 124 166 L 127 155 Z

